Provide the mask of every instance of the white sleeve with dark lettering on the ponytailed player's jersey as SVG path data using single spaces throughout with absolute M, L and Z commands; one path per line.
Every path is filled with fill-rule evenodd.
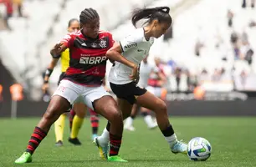
M 120 47 L 122 48 L 123 52 L 126 52 L 131 48 L 137 48 L 138 43 L 140 43 L 142 39 L 143 37 L 141 37 L 141 34 L 134 33 L 120 40 Z

